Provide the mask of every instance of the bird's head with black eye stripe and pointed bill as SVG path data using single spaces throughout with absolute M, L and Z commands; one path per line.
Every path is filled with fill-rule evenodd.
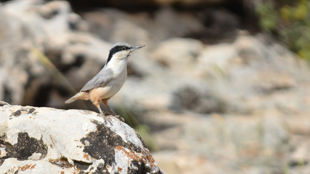
M 142 48 L 145 45 L 138 45 L 138 46 L 131 46 L 127 43 L 116 43 L 113 45 L 113 47 L 110 49 L 109 57 L 106 62 L 108 64 L 111 60 L 123 60 L 126 59 L 130 53 L 136 49 Z

